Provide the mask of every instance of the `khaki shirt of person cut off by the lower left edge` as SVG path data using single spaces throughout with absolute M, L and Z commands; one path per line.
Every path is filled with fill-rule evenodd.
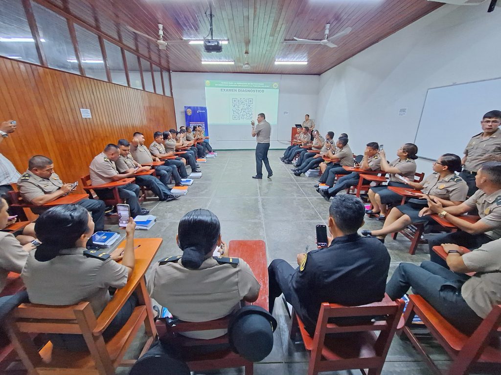
M 4 290 L 9 272 L 21 273 L 28 255 L 12 233 L 0 231 L 0 291 Z

